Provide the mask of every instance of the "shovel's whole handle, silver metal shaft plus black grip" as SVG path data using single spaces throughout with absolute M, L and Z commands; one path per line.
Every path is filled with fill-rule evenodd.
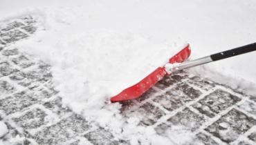
M 226 50 L 226 51 L 223 51 L 223 52 L 219 52 L 219 53 L 210 55 L 208 57 L 202 57 L 200 59 L 195 59 L 195 60 L 192 60 L 192 61 L 186 61 L 186 62 L 183 62 L 182 64 L 180 64 L 179 66 L 175 66 L 174 68 L 170 68 L 169 70 L 166 70 L 166 71 L 169 72 L 169 73 L 172 73 L 172 72 L 176 72 L 176 71 L 179 71 L 179 70 L 183 70 L 185 68 L 191 68 L 191 67 L 194 67 L 194 66 L 199 66 L 201 64 L 207 64 L 207 63 L 212 62 L 212 61 L 218 61 L 218 60 L 221 60 L 221 59 L 234 57 L 236 55 L 241 55 L 241 54 L 244 54 L 244 53 L 247 53 L 247 52 L 252 52 L 252 51 L 255 51 L 255 50 L 256 50 L 256 43 L 250 43 L 246 46 L 241 46 L 241 47 L 234 48 L 234 49 L 231 49 L 231 50 Z

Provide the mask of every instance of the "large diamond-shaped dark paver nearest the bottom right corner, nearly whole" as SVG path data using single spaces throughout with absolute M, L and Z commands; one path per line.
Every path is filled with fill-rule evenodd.
M 217 120 L 217 122 L 205 128 L 205 131 L 212 133 L 215 137 L 229 144 L 235 141 L 239 135 L 244 134 L 252 126 L 255 126 L 255 124 L 256 120 L 252 117 L 232 109 Z

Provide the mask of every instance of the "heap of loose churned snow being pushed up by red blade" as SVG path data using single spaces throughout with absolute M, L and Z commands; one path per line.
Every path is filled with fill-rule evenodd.
M 16 46 L 51 64 L 55 89 L 60 90 L 64 104 L 87 115 L 94 115 L 93 110 L 100 110 L 110 97 L 164 66 L 170 57 L 188 45 L 185 41 L 160 43 L 113 30 L 65 34 L 58 31 L 66 25 L 53 19 L 45 16 L 41 23 L 51 29 Z

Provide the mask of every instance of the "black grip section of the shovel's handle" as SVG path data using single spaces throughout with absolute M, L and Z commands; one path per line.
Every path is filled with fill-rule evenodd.
M 256 50 L 256 43 L 250 43 L 246 46 L 241 46 L 241 47 L 234 48 L 231 50 L 219 52 L 214 55 L 210 55 L 210 58 L 212 59 L 212 61 L 217 61 L 217 60 L 226 59 L 229 57 L 234 57 L 236 55 L 241 55 L 241 54 L 244 54 L 247 52 L 252 52 L 255 50 Z

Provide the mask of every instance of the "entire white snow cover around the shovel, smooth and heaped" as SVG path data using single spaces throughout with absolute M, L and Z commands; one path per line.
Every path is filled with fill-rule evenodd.
M 127 128 L 119 135 L 127 137 L 136 135 L 131 131 L 136 119 L 124 126 L 120 105 L 109 97 L 163 66 L 184 41 L 192 47 L 190 59 L 255 42 L 255 6 L 253 0 L 2 1 L 0 20 L 37 16 L 41 30 L 11 47 L 51 64 L 64 104 L 116 134 Z M 189 71 L 256 95 L 254 55 Z M 151 128 L 144 130 L 149 138 L 154 135 Z

